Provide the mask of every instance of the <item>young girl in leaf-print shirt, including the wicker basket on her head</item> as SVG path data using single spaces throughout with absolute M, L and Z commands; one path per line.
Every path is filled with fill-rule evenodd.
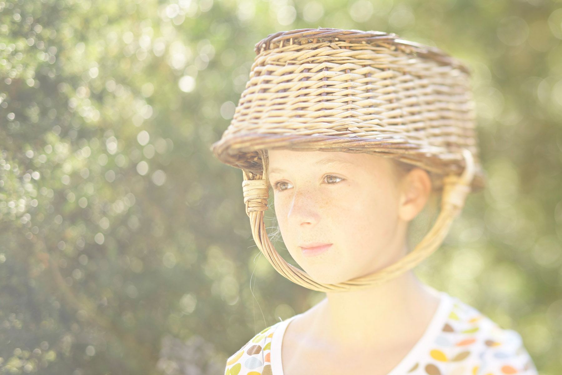
M 213 151 L 243 170 L 266 258 L 326 298 L 251 338 L 225 374 L 536 375 L 517 332 L 411 271 L 484 184 L 466 66 L 379 31 L 285 31 L 256 53 Z M 265 233 L 269 188 L 302 270 Z M 441 213 L 409 251 L 409 222 L 441 191 Z

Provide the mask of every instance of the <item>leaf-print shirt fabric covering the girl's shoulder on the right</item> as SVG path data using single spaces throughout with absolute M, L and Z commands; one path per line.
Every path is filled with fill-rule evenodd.
M 429 362 L 451 374 L 537 374 L 518 332 L 501 328 L 456 297 L 446 297 L 451 310 L 429 351 Z

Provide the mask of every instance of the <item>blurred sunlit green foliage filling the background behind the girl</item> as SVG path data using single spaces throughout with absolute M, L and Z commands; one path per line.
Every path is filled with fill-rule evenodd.
M 209 151 L 254 44 L 318 26 L 473 68 L 489 184 L 415 272 L 562 373 L 562 2 L 547 0 L 0 2 L 0 373 L 219 374 L 322 297 L 259 255 L 242 175 Z

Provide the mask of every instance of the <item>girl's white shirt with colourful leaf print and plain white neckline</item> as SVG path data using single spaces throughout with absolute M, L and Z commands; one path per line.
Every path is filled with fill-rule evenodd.
M 388 375 L 537 375 L 518 332 L 463 301 L 441 299 L 422 337 Z M 301 314 L 298 314 L 301 315 Z M 265 328 L 226 362 L 225 375 L 284 375 L 283 335 L 293 317 Z

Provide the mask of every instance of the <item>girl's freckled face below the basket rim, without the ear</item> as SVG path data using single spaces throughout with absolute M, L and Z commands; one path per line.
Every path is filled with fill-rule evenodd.
M 269 151 L 283 241 L 313 279 L 348 281 L 405 255 L 407 220 L 393 168 L 368 153 Z

